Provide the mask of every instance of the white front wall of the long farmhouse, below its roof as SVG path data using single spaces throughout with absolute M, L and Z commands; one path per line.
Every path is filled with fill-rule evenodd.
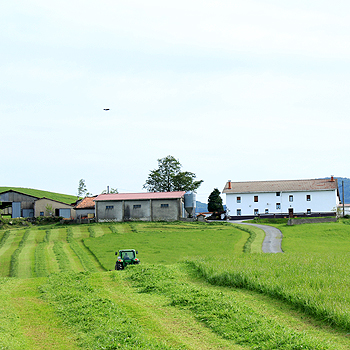
M 293 196 L 292 202 L 289 201 L 290 195 Z M 307 195 L 311 196 L 310 201 L 306 200 Z M 258 196 L 258 202 L 254 202 L 254 196 Z M 241 197 L 241 203 L 237 203 L 237 197 Z M 281 209 L 276 209 L 276 203 L 281 204 Z M 259 214 L 265 214 L 265 209 L 269 214 L 288 214 L 289 208 L 293 208 L 294 213 L 306 213 L 307 209 L 311 209 L 311 213 L 332 212 L 337 204 L 336 190 L 280 192 L 280 196 L 276 196 L 276 192 L 226 194 L 230 216 L 236 216 L 237 209 L 241 209 L 242 216 L 254 215 L 254 209 L 258 209 Z

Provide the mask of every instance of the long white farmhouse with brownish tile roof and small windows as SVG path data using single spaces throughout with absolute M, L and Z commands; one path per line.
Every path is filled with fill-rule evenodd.
M 339 204 L 337 180 L 231 182 L 224 190 L 231 219 L 254 216 L 293 217 L 335 215 Z

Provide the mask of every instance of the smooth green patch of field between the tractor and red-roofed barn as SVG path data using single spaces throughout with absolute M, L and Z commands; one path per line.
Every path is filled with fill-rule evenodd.
M 141 263 L 168 265 L 201 256 L 213 256 L 220 261 L 243 254 L 243 246 L 250 236 L 249 232 L 230 224 L 215 222 L 133 222 L 104 227 L 109 228 L 109 232 L 105 229 L 103 236 L 86 238 L 84 244 L 106 270 L 114 269 L 115 252 L 119 249 L 138 250 Z

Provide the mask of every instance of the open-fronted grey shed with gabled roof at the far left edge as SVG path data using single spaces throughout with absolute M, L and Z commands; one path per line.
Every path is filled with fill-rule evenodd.
M 0 193 L 0 213 L 11 215 L 12 218 L 33 217 L 34 203 L 38 197 L 8 190 Z

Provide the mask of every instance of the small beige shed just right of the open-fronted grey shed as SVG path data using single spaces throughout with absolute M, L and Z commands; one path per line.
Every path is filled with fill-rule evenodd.
M 35 217 L 61 216 L 69 219 L 75 218 L 76 214 L 72 205 L 44 197 L 34 202 L 34 215 Z

